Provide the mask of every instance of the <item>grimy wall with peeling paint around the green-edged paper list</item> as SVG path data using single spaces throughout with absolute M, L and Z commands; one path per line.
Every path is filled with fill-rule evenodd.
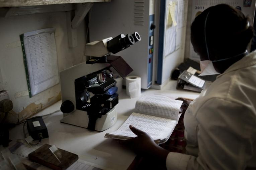
M 19 39 L 22 33 L 52 27 L 56 28 L 59 70 L 81 63 L 85 46 L 85 21 L 77 28 L 78 46 L 69 48 L 65 12 L 0 18 L 0 90 L 8 90 L 13 110 L 19 113 L 20 120 L 61 99 L 60 84 L 29 98 Z

